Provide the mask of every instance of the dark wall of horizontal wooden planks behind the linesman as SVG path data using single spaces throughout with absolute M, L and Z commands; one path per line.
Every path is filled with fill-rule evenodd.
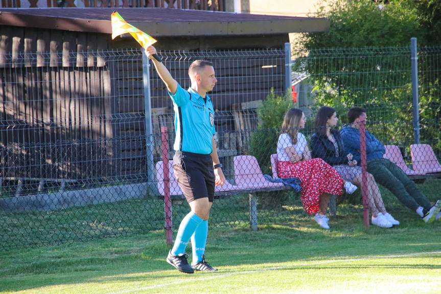
M 139 54 L 139 53 L 138 53 Z M 184 88 L 190 86 L 188 77 L 188 68 L 195 59 L 173 57 L 171 55 L 163 55 L 163 60 L 172 76 Z M 199 57 L 200 58 L 200 57 Z M 239 103 L 264 100 L 274 88 L 276 93 L 285 93 L 284 76 L 285 61 L 284 57 L 267 54 L 267 56 L 240 57 L 204 57 L 206 60 L 214 62 L 216 77 L 218 84 L 214 91 L 209 94 L 214 103 L 216 110 L 216 128 L 217 131 L 235 130 L 234 115 L 243 109 L 234 109 L 234 105 Z M 240 60 L 238 60 L 240 59 Z M 159 79 L 156 71 L 150 67 L 150 92 L 152 105 L 152 123 L 153 132 L 159 133 L 160 127 L 166 125 L 169 132 L 174 132 L 174 111 L 172 101 L 168 96 L 164 83 Z M 125 123 L 119 124 L 117 133 L 123 135 L 143 135 L 145 134 L 144 118 L 144 87 L 142 79 L 142 62 L 141 56 L 124 61 L 119 61 L 111 66 L 112 93 L 118 100 L 119 115 L 125 117 Z M 129 73 L 140 73 L 132 76 Z M 253 105 L 258 105 L 254 103 Z M 255 110 L 255 109 L 254 109 Z M 243 110 L 248 115 L 253 109 Z M 254 112 L 255 113 L 255 112 Z M 256 126 L 254 126 L 255 128 Z M 243 130 L 243 129 L 240 129 Z M 173 135 L 173 134 L 170 134 Z M 225 136 L 220 136 L 219 140 L 224 140 Z M 225 140 L 230 140 L 228 136 Z M 160 142 L 160 136 L 155 136 L 155 140 Z M 169 149 L 173 149 L 174 137 L 170 138 Z M 236 140 L 236 138 L 234 139 Z M 231 141 L 231 140 L 230 140 Z M 154 160 L 161 160 L 160 144 L 155 144 Z M 237 146 L 236 146 L 237 145 Z M 237 152 L 242 152 L 244 144 L 234 144 Z M 220 149 L 220 154 L 225 156 L 233 156 L 231 145 L 229 142 L 219 142 L 221 148 L 227 146 L 227 149 Z M 124 162 L 119 164 L 119 168 L 127 175 L 131 173 L 132 166 L 145 165 L 146 145 L 145 142 L 139 140 L 126 140 L 120 145 L 119 152 Z M 233 154 L 233 155 L 232 155 Z

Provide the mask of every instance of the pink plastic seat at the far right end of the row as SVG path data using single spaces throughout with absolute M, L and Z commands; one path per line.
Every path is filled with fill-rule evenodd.
M 441 165 L 436 159 L 433 149 L 428 144 L 410 145 L 410 155 L 412 157 L 412 167 L 414 170 L 425 173 L 441 172 Z

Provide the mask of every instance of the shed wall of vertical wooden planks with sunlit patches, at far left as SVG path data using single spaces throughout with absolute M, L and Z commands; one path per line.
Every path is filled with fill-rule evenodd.
M 115 175 L 110 75 L 97 53 L 107 47 L 102 34 L 0 27 L 0 176 Z

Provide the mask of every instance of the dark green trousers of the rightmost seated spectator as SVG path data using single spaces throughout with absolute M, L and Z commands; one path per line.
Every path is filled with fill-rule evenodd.
M 429 199 L 416 187 L 416 184 L 390 160 L 382 158 L 369 160 L 367 172 L 411 210 L 415 211 L 420 206 L 427 210 L 432 207 Z

